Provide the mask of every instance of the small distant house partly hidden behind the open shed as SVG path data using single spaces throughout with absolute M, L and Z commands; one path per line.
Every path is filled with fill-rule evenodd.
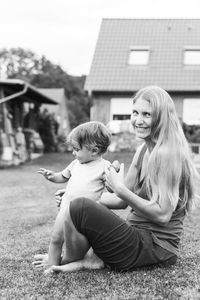
M 64 88 L 38 89 L 42 94 L 54 99 L 58 105 L 43 104 L 41 110 L 47 110 L 53 114 L 58 122 L 58 135 L 64 136 L 70 132 L 70 124 L 67 110 L 67 97 Z

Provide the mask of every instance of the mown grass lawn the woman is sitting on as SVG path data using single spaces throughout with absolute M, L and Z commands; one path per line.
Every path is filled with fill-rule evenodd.
M 126 169 L 131 154 L 109 154 Z M 175 266 L 116 273 L 107 269 L 44 276 L 31 262 L 48 249 L 57 208 L 39 167 L 60 170 L 70 154 L 47 154 L 0 170 L 0 299 L 200 299 L 200 206 L 185 220 Z

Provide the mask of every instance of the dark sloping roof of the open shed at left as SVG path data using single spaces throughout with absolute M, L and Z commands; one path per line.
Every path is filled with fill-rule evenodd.
M 37 88 L 20 79 L 0 79 L 1 87 L 4 89 L 4 98 L 0 99 L 0 103 L 20 99 L 24 102 L 57 104 L 52 97 L 40 93 Z

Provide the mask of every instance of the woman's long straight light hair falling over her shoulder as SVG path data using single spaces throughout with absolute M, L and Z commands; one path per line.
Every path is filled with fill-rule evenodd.
M 174 209 L 178 199 L 186 210 L 194 198 L 194 168 L 190 148 L 178 119 L 174 102 L 160 87 L 139 90 L 133 98 L 148 101 L 152 107 L 151 141 L 154 148 L 148 161 L 147 191 L 152 200 L 169 198 Z

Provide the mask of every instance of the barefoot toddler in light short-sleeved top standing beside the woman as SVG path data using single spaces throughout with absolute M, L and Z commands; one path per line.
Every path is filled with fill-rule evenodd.
M 68 143 L 72 146 L 75 160 L 61 172 L 53 172 L 43 168 L 38 171 L 49 181 L 67 183 L 50 242 L 49 266 L 66 263 L 65 254 L 62 253 L 62 246 L 65 243 L 63 213 L 66 205 L 73 199 L 83 196 L 94 201 L 99 200 L 105 188 L 105 168 L 112 166 L 117 171 L 119 170 L 117 161 L 111 165 L 108 160 L 102 158 L 110 142 L 111 133 L 103 123 L 87 122 L 81 124 L 74 128 L 68 136 Z

